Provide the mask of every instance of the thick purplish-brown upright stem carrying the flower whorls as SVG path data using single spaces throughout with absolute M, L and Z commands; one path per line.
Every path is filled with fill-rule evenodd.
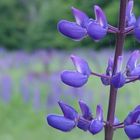
M 126 21 L 126 6 L 128 0 L 120 0 L 120 14 L 119 14 L 119 32 L 116 35 L 116 50 L 114 57 L 114 66 L 113 66 L 113 75 L 116 73 L 117 60 L 120 55 L 122 55 L 124 39 L 125 39 L 125 21 Z M 113 139 L 113 122 L 115 116 L 116 108 L 116 99 L 117 99 L 117 89 L 113 86 L 110 86 L 110 97 L 108 105 L 108 114 L 107 114 L 107 123 L 105 126 L 105 140 Z

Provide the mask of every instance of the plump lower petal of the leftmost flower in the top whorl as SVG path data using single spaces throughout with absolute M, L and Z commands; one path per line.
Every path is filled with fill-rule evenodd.
M 66 20 L 61 20 L 58 23 L 58 30 L 63 35 L 77 41 L 82 40 L 87 34 L 84 28 L 77 25 L 75 22 L 69 22 Z

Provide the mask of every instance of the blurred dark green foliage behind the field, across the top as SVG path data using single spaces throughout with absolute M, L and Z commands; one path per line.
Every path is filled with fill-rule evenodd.
M 108 35 L 101 42 L 94 43 L 91 39 L 74 42 L 63 37 L 57 31 L 60 19 L 74 20 L 71 6 L 85 11 L 94 18 L 92 7 L 100 5 L 109 23 L 117 25 L 119 2 L 115 0 L 0 0 L 0 45 L 8 49 L 92 47 L 101 49 L 112 47 L 114 37 Z M 139 15 L 139 4 L 136 1 L 135 13 Z M 130 37 L 126 48 L 137 47 Z M 92 44 L 91 44 L 92 43 Z

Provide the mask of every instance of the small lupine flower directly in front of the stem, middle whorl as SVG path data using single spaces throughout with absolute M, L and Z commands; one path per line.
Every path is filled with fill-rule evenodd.
M 123 60 L 122 56 L 119 56 L 117 62 L 116 74 L 113 75 L 113 77 L 111 78 L 111 84 L 115 88 L 121 88 L 122 86 L 124 86 L 126 81 L 124 74 L 121 72 L 122 60 Z

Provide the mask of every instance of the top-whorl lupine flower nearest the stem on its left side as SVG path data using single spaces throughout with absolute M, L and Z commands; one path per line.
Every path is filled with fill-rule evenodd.
M 87 33 L 92 39 L 98 41 L 106 36 L 108 24 L 106 16 L 99 6 L 94 6 L 94 12 L 96 19 L 89 23 Z

